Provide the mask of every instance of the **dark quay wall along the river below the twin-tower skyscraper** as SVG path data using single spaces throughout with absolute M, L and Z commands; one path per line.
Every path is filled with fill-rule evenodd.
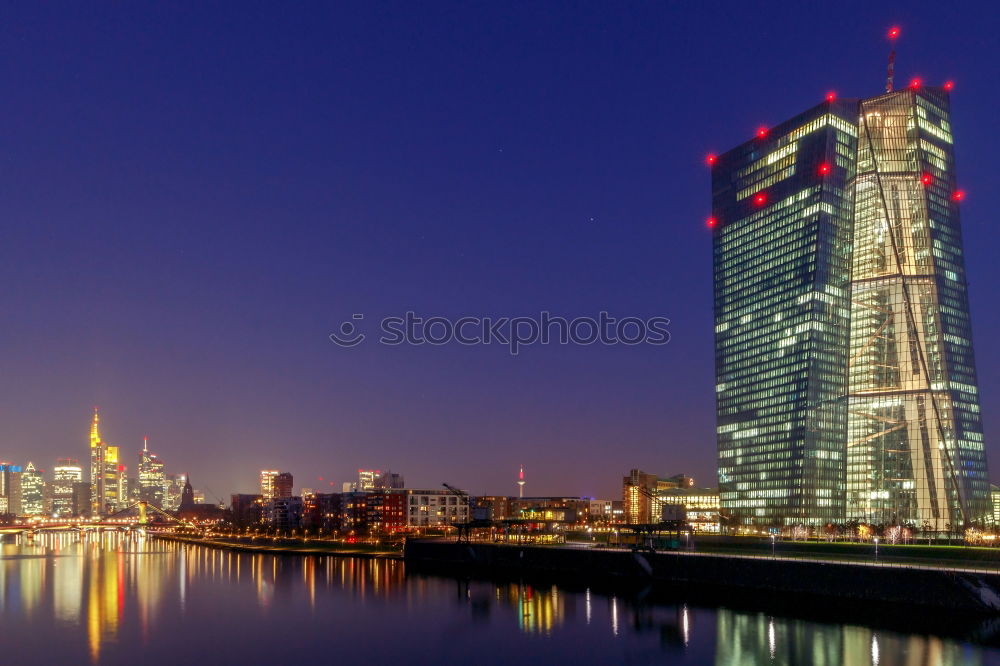
M 1000 575 L 956 569 L 601 548 L 406 542 L 407 570 L 622 581 L 678 591 L 827 598 L 1000 615 Z

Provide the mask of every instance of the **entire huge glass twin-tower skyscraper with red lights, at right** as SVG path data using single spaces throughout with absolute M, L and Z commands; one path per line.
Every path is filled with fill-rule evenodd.
M 720 499 L 743 524 L 987 512 L 948 107 L 831 96 L 710 159 Z

